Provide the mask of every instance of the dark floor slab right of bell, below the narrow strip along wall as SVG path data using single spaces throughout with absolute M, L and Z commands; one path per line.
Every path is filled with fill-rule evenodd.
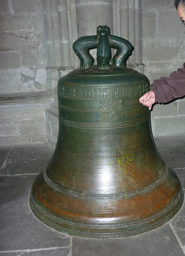
M 171 168 L 185 168 L 185 145 L 164 146 L 157 149 Z

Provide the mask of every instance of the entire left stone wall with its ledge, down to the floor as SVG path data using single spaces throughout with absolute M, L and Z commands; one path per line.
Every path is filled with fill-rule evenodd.
M 47 142 L 42 4 L 0 1 L 0 144 Z

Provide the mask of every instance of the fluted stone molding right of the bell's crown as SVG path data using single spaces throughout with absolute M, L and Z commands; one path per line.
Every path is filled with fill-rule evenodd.
M 134 51 L 127 66 L 144 73 L 142 0 L 117 0 L 113 5 L 113 32 L 127 39 Z

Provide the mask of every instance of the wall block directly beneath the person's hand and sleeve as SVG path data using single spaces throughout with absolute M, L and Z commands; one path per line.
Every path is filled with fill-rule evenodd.
M 151 118 L 157 116 L 177 116 L 177 100 L 165 104 L 155 104 L 151 111 Z

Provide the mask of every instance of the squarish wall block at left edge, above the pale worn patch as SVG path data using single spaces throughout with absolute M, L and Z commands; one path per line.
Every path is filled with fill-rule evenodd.
M 21 66 L 20 52 L 0 52 L 0 69 L 18 68 Z

